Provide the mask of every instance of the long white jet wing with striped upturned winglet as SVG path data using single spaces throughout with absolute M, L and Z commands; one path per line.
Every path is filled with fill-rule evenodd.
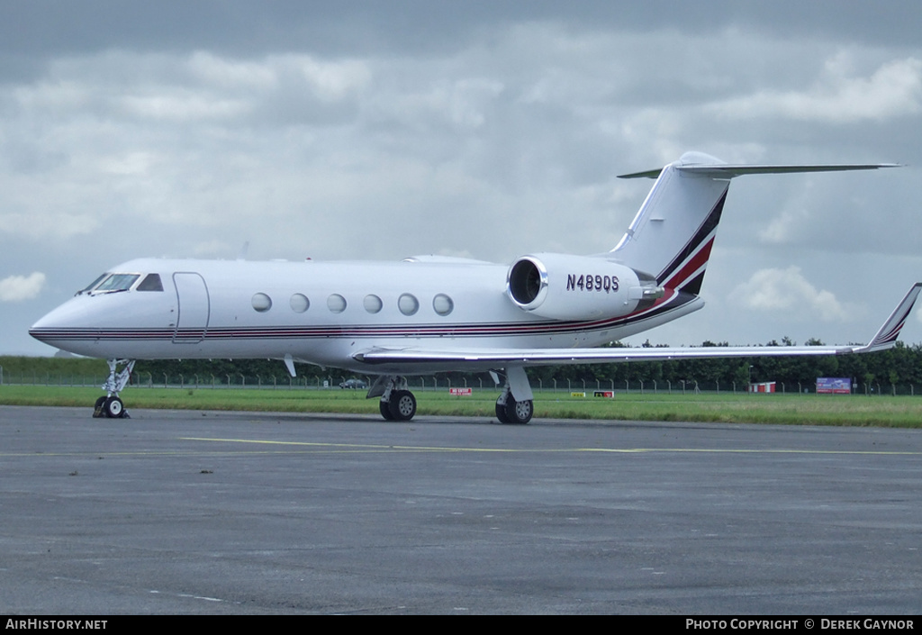
M 503 367 L 506 365 L 573 365 L 713 357 L 765 357 L 786 355 L 844 355 L 891 348 L 916 303 L 922 282 L 916 282 L 877 334 L 867 344 L 847 346 L 699 346 L 688 348 L 570 348 L 428 350 L 423 348 L 372 348 L 353 358 L 368 365 L 446 365 Z

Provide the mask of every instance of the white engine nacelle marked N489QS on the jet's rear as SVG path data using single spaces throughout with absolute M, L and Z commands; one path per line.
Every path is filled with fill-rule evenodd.
M 540 317 L 588 320 L 627 315 L 663 290 L 651 276 L 605 258 L 534 254 L 509 268 L 506 294 Z

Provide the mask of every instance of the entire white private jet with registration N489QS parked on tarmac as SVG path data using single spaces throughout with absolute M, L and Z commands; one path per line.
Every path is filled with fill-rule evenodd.
M 916 283 L 864 346 L 594 348 L 703 306 L 704 270 L 727 199 L 743 174 L 872 170 L 890 164 L 728 165 L 697 152 L 656 178 L 627 232 L 596 256 L 535 253 L 512 265 L 422 256 L 400 262 L 138 259 L 103 273 L 30 334 L 109 361 L 96 413 L 123 416 L 119 393 L 137 359 L 272 358 L 377 380 L 385 419 L 416 413 L 407 376 L 491 371 L 496 415 L 532 416 L 529 365 L 687 357 L 867 353 L 889 348 Z M 502 379 L 501 379 L 502 377 Z

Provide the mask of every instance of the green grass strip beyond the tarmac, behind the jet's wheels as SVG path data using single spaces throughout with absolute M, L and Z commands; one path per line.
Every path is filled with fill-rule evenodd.
M 455 397 L 415 393 L 420 414 L 494 417 L 496 392 Z M 93 388 L 0 386 L 0 404 L 85 406 L 101 392 Z M 128 389 L 126 407 L 183 410 L 242 410 L 304 413 L 378 413 L 377 400 L 351 390 Z M 535 416 L 561 419 L 693 421 L 790 425 L 922 426 L 922 397 L 703 393 L 619 394 L 615 399 L 574 398 L 536 392 Z

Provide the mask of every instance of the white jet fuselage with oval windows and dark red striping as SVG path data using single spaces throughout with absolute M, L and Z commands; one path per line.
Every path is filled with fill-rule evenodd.
M 143 258 L 112 269 L 129 288 L 77 294 L 30 332 L 58 348 L 102 358 L 276 358 L 367 374 L 453 370 L 433 363 L 369 366 L 371 347 L 428 350 L 593 347 L 685 315 L 696 297 L 667 294 L 656 310 L 583 320 L 535 316 L 506 291 L 508 267 L 472 260 L 253 262 Z M 158 274 L 162 290 L 140 287 Z M 573 277 L 576 273 L 571 274 Z M 565 284 L 561 281 L 561 285 Z M 573 290 L 578 291 L 578 290 Z M 624 297 L 627 297 L 624 294 Z M 621 315 L 619 315 L 621 314 Z M 484 365 L 486 369 L 488 365 Z

